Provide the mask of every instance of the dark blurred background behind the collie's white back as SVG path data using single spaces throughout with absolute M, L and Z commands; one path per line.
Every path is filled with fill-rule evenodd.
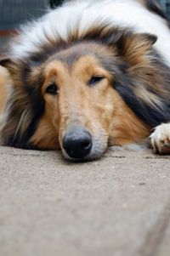
M 62 2 L 62 0 L 0 0 L 0 53 L 20 24 L 41 16 L 48 8 L 54 9 Z M 157 2 L 161 3 L 162 8 L 170 15 L 170 0 Z

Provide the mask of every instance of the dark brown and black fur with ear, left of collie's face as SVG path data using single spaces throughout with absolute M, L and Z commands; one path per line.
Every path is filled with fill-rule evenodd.
M 28 140 L 34 133 L 43 110 L 38 90 L 42 77 L 35 75 L 35 71 L 31 72 L 31 67 L 24 62 L 2 62 L 14 82 L 8 96 L 6 120 L 1 130 L 3 143 L 21 148 L 29 147 Z

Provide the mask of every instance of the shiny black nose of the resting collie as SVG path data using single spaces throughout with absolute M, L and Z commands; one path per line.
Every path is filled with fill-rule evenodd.
M 72 128 L 66 132 L 63 139 L 63 147 L 68 156 L 75 159 L 83 159 L 92 149 L 92 137 L 84 128 Z

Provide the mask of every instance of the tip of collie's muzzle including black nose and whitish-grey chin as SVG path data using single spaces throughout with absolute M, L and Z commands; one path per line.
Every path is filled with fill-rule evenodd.
M 86 128 L 76 127 L 65 133 L 61 150 L 65 159 L 83 162 L 99 158 L 106 147 L 107 139 L 103 133 L 94 138 Z

